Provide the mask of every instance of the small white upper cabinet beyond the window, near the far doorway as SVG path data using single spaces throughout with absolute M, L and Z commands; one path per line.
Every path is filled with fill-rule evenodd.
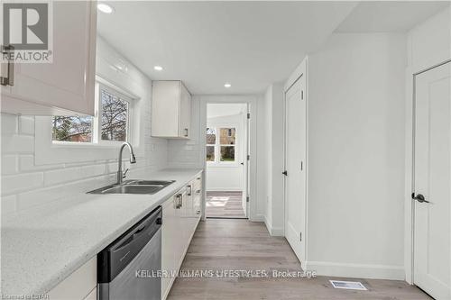
M 191 95 L 181 81 L 152 82 L 152 136 L 189 139 Z

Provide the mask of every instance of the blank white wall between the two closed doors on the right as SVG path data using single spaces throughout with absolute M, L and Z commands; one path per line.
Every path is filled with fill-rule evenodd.
M 308 268 L 404 279 L 402 34 L 333 34 L 308 64 Z

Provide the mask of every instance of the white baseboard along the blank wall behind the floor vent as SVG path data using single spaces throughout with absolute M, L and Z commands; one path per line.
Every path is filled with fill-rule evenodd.
M 405 280 L 403 266 L 364 265 L 327 261 L 306 261 L 301 266 L 304 270 L 316 271 L 317 275 L 320 276 Z

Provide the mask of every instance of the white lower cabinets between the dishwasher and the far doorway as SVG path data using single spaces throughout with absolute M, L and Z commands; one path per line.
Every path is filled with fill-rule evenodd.
M 169 295 L 175 280 L 171 275 L 179 271 L 200 220 L 200 198 L 197 207 L 193 187 L 194 180 L 162 205 L 161 270 L 170 275 L 161 279 L 162 299 Z

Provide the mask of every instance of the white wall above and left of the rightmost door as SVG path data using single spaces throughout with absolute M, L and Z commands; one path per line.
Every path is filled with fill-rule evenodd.
M 411 225 L 412 201 L 410 193 L 412 170 L 412 76 L 424 68 L 437 65 L 451 59 L 451 8 L 438 13 L 424 23 L 420 23 L 407 34 L 408 68 L 406 71 L 406 138 L 405 138 L 405 231 L 404 231 L 404 265 L 406 280 L 412 283 L 411 269 Z

